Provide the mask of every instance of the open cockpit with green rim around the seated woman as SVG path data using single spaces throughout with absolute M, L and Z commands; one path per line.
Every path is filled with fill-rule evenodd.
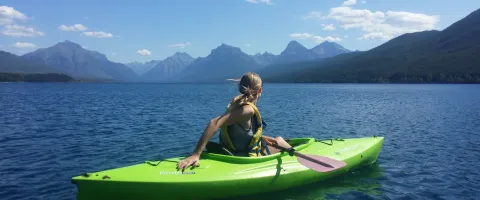
M 295 151 L 300 151 L 302 149 L 307 148 L 311 144 L 313 144 L 315 142 L 315 139 L 314 138 L 292 138 L 286 141 L 295 149 Z M 288 155 L 287 152 L 279 152 L 276 154 L 261 156 L 261 157 L 235 156 L 228 150 L 222 148 L 220 145 L 211 142 L 207 146 L 207 152 L 204 152 L 201 157 L 212 159 L 212 160 L 223 161 L 223 162 L 231 162 L 231 163 L 257 163 L 257 162 L 273 160 L 278 157 L 282 157 L 286 155 Z

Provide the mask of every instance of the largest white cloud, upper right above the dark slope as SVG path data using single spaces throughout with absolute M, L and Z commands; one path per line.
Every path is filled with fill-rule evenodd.
M 342 28 L 359 28 L 365 34 L 359 39 L 389 40 L 404 33 L 432 30 L 438 23 L 438 16 L 404 11 L 386 13 L 350 7 L 331 8 L 327 16 L 338 21 Z

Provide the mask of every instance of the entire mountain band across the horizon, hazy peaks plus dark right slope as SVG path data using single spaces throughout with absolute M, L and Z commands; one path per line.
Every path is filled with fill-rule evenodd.
M 22 56 L 0 51 L 0 81 L 211 83 L 253 71 L 269 83 L 480 83 L 479 52 L 476 10 L 442 31 L 403 34 L 364 52 L 334 42 L 308 49 L 291 41 L 279 55 L 248 55 L 221 44 L 206 57 L 177 52 L 122 64 L 64 41 Z

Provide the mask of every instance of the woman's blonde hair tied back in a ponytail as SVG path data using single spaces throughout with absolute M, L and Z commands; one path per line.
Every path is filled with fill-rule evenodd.
M 234 109 L 243 106 L 247 102 L 253 102 L 260 96 L 260 88 L 262 88 L 262 79 L 254 72 L 245 73 L 238 83 L 238 91 L 240 95 L 234 97 L 228 104 L 228 109 Z

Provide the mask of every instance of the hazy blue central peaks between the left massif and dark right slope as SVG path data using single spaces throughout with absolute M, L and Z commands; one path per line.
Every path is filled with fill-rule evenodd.
M 221 44 L 206 57 L 193 58 L 187 53 L 177 52 L 161 61 L 128 64 L 134 70 L 151 68 L 141 75 L 142 81 L 154 82 L 221 82 L 225 79 L 238 78 L 248 71 L 259 71 L 270 65 L 322 59 L 349 50 L 332 42 L 323 42 L 312 49 L 307 49 L 297 41 L 291 41 L 280 55 L 264 52 L 248 55 L 240 48 Z M 148 63 L 156 66 L 147 66 Z

